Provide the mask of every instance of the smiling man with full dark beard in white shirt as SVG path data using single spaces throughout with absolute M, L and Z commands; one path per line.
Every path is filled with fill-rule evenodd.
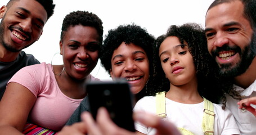
M 215 0 L 205 19 L 208 51 L 219 65 L 219 75 L 246 98 L 239 102 L 230 92 L 226 96 L 241 134 L 256 134 L 255 12 L 254 0 Z

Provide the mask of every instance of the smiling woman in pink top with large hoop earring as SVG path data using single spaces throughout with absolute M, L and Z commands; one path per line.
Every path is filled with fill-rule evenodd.
M 66 15 L 60 39 L 64 65 L 26 66 L 11 78 L 0 103 L 0 133 L 21 134 L 26 122 L 60 131 L 87 95 L 85 82 L 98 80 L 90 73 L 98 61 L 102 34 L 102 21 L 94 13 Z

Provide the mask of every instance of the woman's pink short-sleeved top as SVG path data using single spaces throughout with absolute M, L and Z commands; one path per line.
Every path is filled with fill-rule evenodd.
M 99 80 L 92 75 L 87 79 Z M 51 64 L 26 66 L 8 82 L 16 82 L 28 88 L 37 97 L 28 121 L 41 127 L 60 131 L 83 99 L 73 99 L 61 92 Z M 19 89 L 17 89 L 18 91 Z

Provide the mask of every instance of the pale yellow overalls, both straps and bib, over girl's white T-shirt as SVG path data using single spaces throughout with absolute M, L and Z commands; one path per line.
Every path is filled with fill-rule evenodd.
M 165 92 L 156 93 L 156 114 L 161 118 L 165 118 Z M 202 128 L 205 135 L 214 135 L 214 106 L 213 103 L 204 98 L 204 115 Z M 178 128 L 182 135 L 194 135 L 185 128 Z

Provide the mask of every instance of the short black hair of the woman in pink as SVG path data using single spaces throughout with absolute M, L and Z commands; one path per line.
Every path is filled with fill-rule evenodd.
M 95 28 L 100 38 L 99 39 L 100 45 L 102 44 L 102 40 L 103 40 L 102 24 L 103 23 L 97 15 L 88 11 L 74 11 L 74 12 L 70 12 L 68 15 L 65 16 L 62 22 L 62 28 L 61 28 L 61 35 L 60 35 L 61 41 L 63 40 L 66 34 L 66 31 L 68 31 L 70 26 L 75 26 L 79 24 L 83 26 L 91 26 Z

